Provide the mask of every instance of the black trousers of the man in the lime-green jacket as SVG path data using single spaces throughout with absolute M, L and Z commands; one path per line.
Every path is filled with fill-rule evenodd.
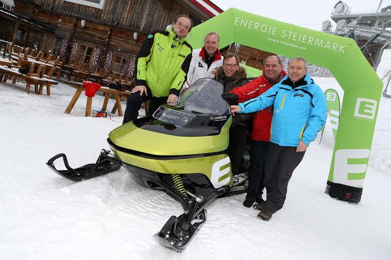
M 152 114 L 154 114 L 154 112 L 156 111 L 156 109 L 158 109 L 160 105 L 163 105 L 165 104 L 165 102 L 167 102 L 168 97 L 153 97 L 149 89 L 147 89 L 147 93 L 148 95 L 145 95 L 145 93 L 142 93 L 142 95 L 140 95 L 140 92 L 138 91 L 129 95 L 128 100 L 126 101 L 124 121 L 122 122 L 122 124 L 128 123 L 129 121 L 133 121 L 138 118 L 138 111 L 140 110 L 142 103 L 147 100 L 151 100 L 151 105 L 149 106 L 149 112 L 146 116 L 151 116 Z

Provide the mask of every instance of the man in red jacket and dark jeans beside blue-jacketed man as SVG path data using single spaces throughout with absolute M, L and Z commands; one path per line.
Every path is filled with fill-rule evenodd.
M 263 73 L 244 86 L 233 89 L 230 94 L 223 96 L 228 102 L 244 102 L 270 89 L 286 75 L 281 59 L 278 56 L 268 56 L 264 61 Z M 253 117 L 251 132 L 249 189 L 243 206 L 250 208 L 254 201 L 263 204 L 263 162 L 266 158 L 267 146 L 270 141 L 270 125 L 272 123 L 273 108 L 268 107 L 258 111 Z

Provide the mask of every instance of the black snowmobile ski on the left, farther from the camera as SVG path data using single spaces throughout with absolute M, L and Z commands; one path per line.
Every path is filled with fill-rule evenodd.
M 69 166 L 68 159 L 64 153 L 54 155 L 46 162 L 46 165 L 57 174 L 63 176 L 64 178 L 68 178 L 71 181 L 84 181 L 88 180 L 89 178 L 109 174 L 110 172 L 117 171 L 117 169 L 121 168 L 121 161 L 113 156 L 110 156 L 109 153 L 110 151 L 102 149 L 98 160 L 96 160 L 96 163 L 90 163 L 75 169 Z M 63 159 L 66 169 L 57 169 L 54 166 L 54 161 L 59 158 Z

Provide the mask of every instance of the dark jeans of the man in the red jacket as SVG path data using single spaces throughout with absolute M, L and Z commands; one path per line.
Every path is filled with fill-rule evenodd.
M 263 183 L 263 164 L 268 145 L 269 142 L 251 139 L 249 189 L 246 194 L 246 200 L 248 201 L 256 201 L 256 198 L 262 197 L 262 191 L 265 188 Z

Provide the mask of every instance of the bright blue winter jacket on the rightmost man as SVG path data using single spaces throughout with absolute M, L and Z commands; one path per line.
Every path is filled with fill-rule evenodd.
M 322 89 L 307 75 L 292 88 L 288 75 L 268 91 L 243 103 L 241 113 L 251 113 L 274 106 L 270 142 L 279 146 L 309 145 L 325 125 L 327 105 Z

